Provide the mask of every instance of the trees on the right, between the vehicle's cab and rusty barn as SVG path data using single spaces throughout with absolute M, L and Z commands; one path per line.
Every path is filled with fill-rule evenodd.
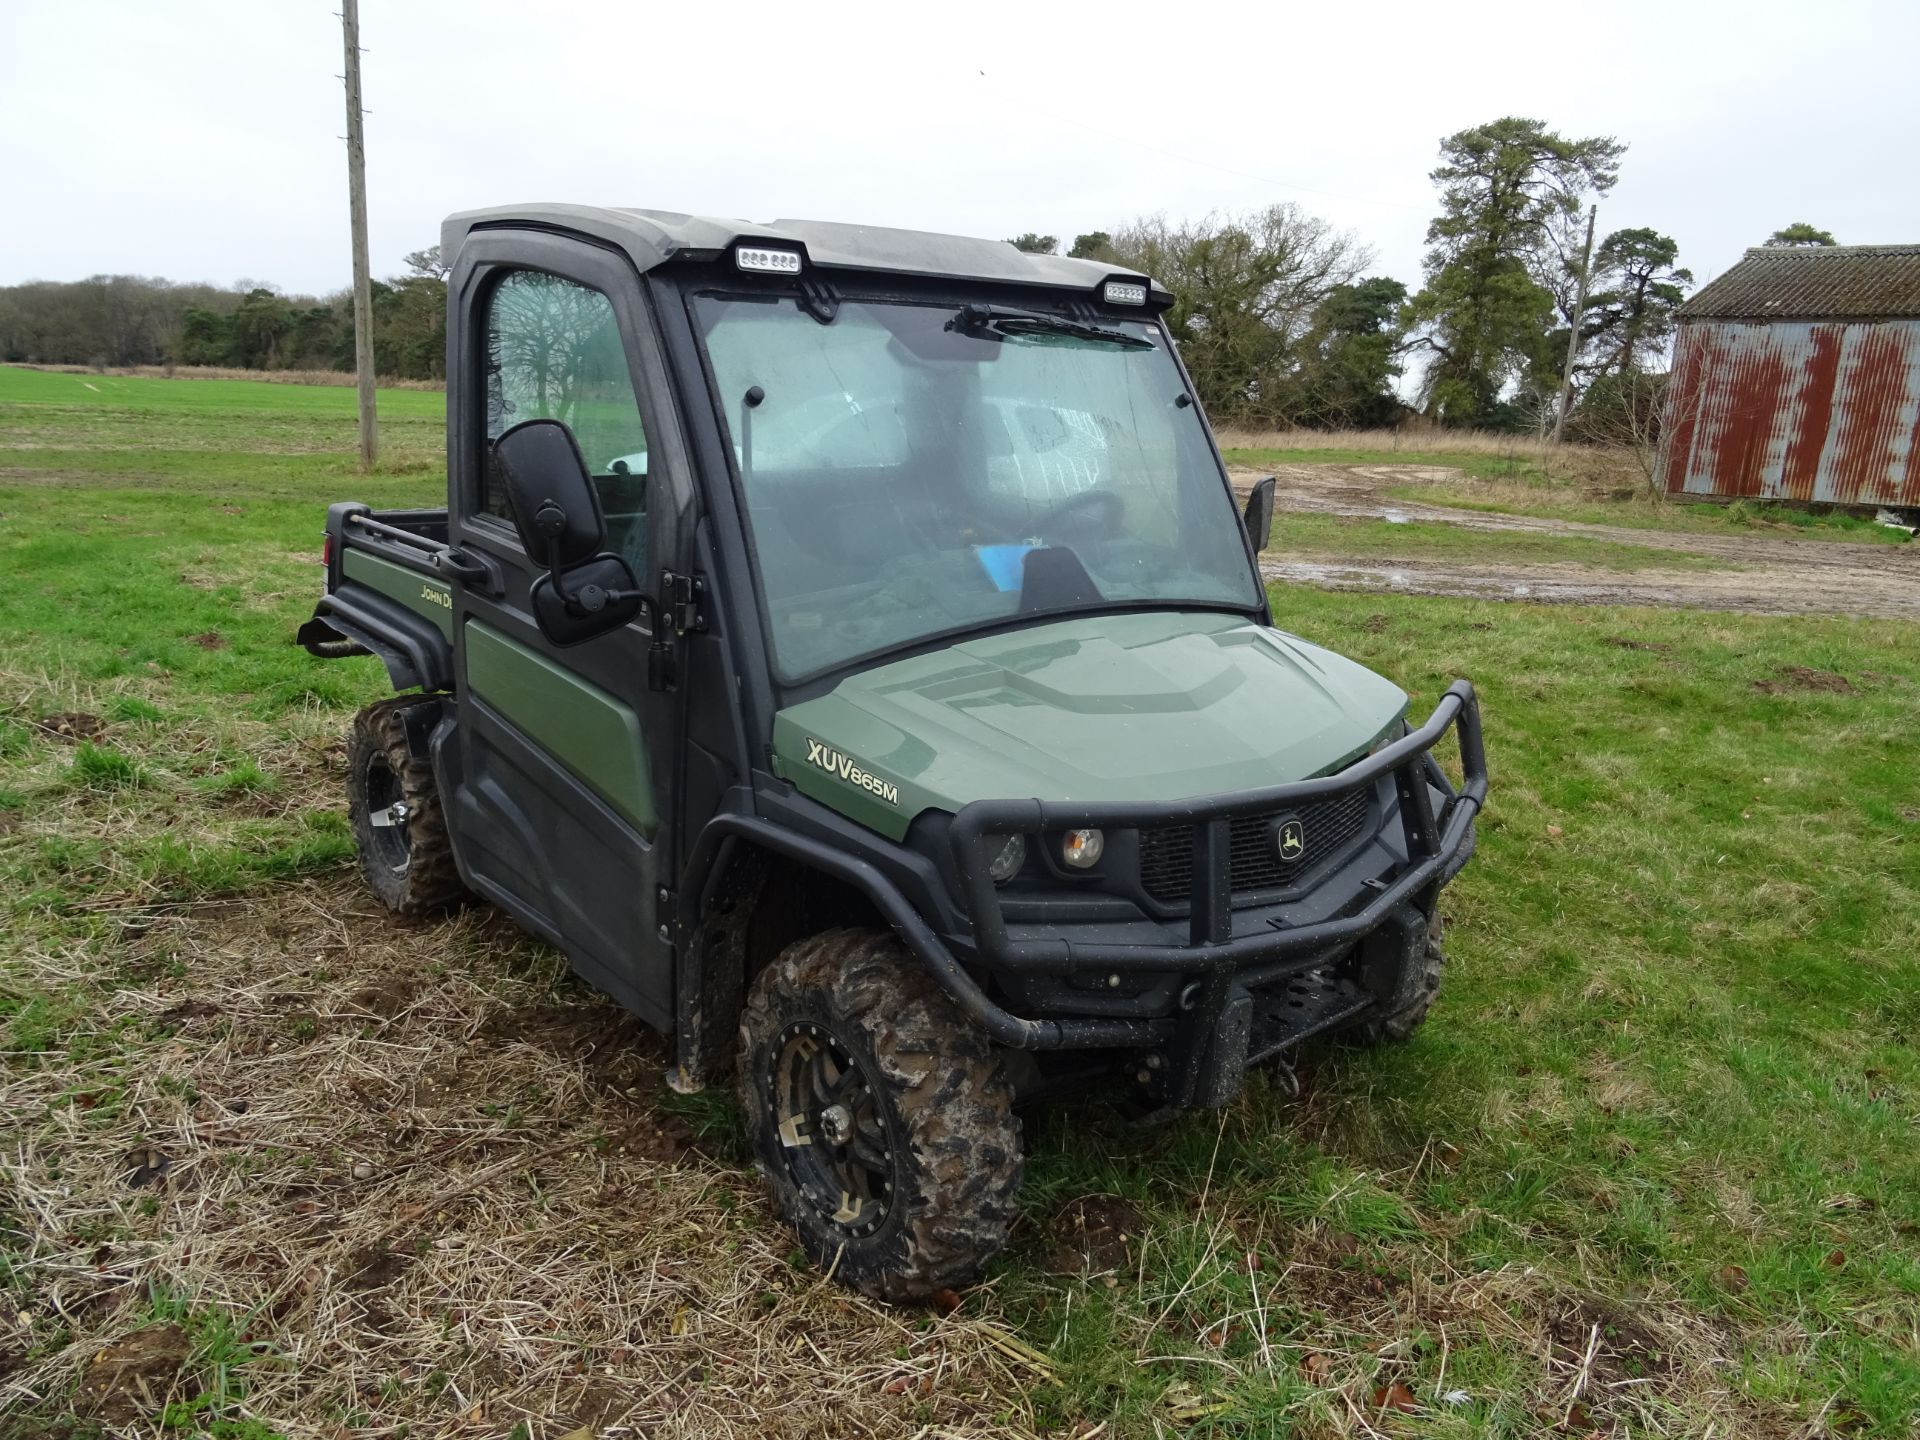
M 1693 284 L 1678 244 L 1649 227 L 1609 230 L 1586 255 L 1588 209 L 1624 154 L 1611 136 L 1569 138 L 1523 117 L 1446 136 L 1417 290 L 1369 275 L 1356 236 L 1298 205 L 1140 219 L 1079 234 L 1066 253 L 1144 271 L 1173 294 L 1167 324 L 1217 424 L 1371 428 L 1421 415 L 1544 430 L 1571 349 L 1574 434 L 1617 438 L 1645 422 Z M 1060 250 L 1041 232 L 1010 242 Z M 1766 244 L 1836 240 L 1793 223 Z

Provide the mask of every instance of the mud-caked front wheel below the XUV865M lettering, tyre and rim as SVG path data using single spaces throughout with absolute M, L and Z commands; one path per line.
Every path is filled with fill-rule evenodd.
M 1012 1089 L 985 1033 L 891 935 L 829 929 L 760 972 L 739 1096 L 774 1212 L 841 1284 L 920 1300 L 1006 1244 Z

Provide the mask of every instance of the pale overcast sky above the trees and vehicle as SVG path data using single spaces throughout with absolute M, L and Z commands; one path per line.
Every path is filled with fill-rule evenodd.
M 336 0 L 0 0 L 0 284 L 349 276 Z M 363 0 L 374 275 L 522 200 L 1071 238 L 1290 200 L 1419 278 L 1442 134 L 1626 152 L 1601 234 L 1707 280 L 1920 240 L 1914 0 Z

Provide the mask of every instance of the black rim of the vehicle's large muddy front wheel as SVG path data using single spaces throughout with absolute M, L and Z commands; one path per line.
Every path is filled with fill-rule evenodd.
M 772 1056 L 768 1100 L 787 1175 L 835 1231 L 872 1235 L 887 1219 L 897 1179 L 879 1087 L 826 1025 L 787 1025 Z

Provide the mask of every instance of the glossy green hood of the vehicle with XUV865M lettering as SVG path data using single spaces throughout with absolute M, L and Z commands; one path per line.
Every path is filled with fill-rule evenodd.
M 1223 614 L 966 639 L 774 716 L 776 768 L 893 839 L 968 801 L 1183 801 L 1323 774 L 1405 712 L 1388 680 Z

